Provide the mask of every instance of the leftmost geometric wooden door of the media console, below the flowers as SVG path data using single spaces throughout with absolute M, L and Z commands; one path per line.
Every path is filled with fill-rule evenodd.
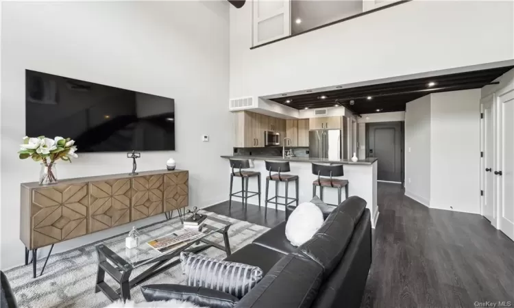
M 85 235 L 87 212 L 87 183 L 32 190 L 32 246 L 47 246 Z

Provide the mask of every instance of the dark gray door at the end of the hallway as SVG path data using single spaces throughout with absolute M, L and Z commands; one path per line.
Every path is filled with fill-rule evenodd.
M 378 158 L 378 180 L 402 182 L 402 122 L 368 123 L 367 153 Z

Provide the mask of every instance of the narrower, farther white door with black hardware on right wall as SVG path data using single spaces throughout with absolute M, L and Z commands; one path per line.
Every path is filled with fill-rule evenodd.
M 480 175 L 482 177 L 482 191 L 484 195 L 480 199 L 482 206 L 482 216 L 487 218 L 495 225 L 495 208 L 494 208 L 494 116 L 493 116 L 494 96 L 485 98 L 481 102 L 482 109 L 482 164 Z

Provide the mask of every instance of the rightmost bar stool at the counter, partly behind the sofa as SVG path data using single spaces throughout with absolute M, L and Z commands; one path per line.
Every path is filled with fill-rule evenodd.
M 345 195 L 348 198 L 348 180 L 333 179 L 332 177 L 342 177 L 344 175 L 343 165 L 319 165 L 313 164 L 313 175 L 318 179 L 313 181 L 313 196 L 316 196 L 316 188 L 319 186 L 319 198 L 323 201 L 323 188 L 337 188 L 337 205 L 341 204 L 341 190 L 345 188 Z M 323 177 L 330 177 L 329 179 Z

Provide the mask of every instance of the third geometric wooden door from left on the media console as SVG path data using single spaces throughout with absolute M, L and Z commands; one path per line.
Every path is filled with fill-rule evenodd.
M 132 221 L 161 214 L 164 175 L 132 179 Z

